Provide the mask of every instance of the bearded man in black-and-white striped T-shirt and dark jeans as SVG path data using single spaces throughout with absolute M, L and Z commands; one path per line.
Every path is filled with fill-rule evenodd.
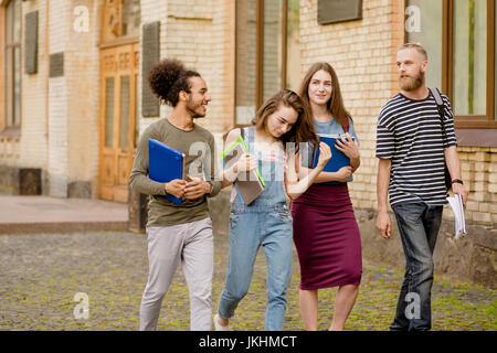
M 390 330 L 425 331 L 432 327 L 433 250 L 447 203 L 445 162 L 453 192 L 463 196 L 464 205 L 468 192 L 461 180 L 448 98 L 442 94 L 445 138 L 435 98 L 425 86 L 426 51 L 417 44 L 402 45 L 396 66 L 401 92 L 384 105 L 378 119 L 377 228 L 383 238 L 390 238 L 390 196 L 406 259 Z

